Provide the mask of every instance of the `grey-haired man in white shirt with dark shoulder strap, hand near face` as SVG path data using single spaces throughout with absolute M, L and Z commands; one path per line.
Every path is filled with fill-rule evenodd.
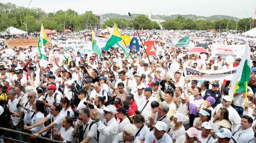
M 79 112 L 81 120 L 76 124 L 76 132 L 79 132 L 80 143 L 96 143 L 98 141 L 97 124 L 90 118 L 89 110 L 91 109 L 83 108 Z

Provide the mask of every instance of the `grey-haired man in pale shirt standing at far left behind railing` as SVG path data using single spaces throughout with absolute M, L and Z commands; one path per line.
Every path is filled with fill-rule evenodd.
M 9 99 L 9 101 L 8 101 L 9 111 L 10 111 L 9 114 L 11 114 L 10 122 L 12 122 L 11 129 L 21 131 L 21 127 L 18 125 L 20 118 L 16 117 L 16 115 L 13 114 L 14 112 L 19 112 L 19 110 L 17 108 L 17 103 L 18 102 L 21 103 L 21 99 L 18 100 L 17 98 L 15 98 L 15 94 L 16 93 L 14 90 L 10 90 L 7 93 L 7 97 Z M 15 139 L 16 136 L 17 136 L 18 140 L 21 141 L 21 134 L 11 134 L 11 138 L 13 138 L 13 139 Z

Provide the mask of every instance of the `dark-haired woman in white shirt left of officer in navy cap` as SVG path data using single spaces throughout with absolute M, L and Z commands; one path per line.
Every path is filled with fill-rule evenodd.
M 195 104 L 198 111 L 200 111 L 201 106 L 203 105 L 204 99 L 201 94 L 202 89 L 199 87 L 195 87 L 194 89 L 194 95 L 190 95 L 188 99 L 190 100 L 190 103 Z

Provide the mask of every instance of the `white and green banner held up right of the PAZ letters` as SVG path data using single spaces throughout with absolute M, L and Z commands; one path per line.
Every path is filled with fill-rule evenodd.
M 175 46 L 175 47 L 187 47 L 189 44 L 189 36 L 186 36 L 182 39 L 175 39 L 175 38 L 170 38 L 167 36 L 166 43 L 165 45 L 167 47 Z

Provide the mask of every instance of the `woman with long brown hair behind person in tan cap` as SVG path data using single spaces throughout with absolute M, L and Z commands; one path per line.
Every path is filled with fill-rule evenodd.
M 212 122 L 214 123 L 213 129 L 215 130 L 215 132 L 218 132 L 217 130 L 220 127 L 220 125 L 218 125 L 217 123 L 222 120 L 229 121 L 229 111 L 226 108 L 219 108 L 216 112 L 216 117 L 212 120 Z

